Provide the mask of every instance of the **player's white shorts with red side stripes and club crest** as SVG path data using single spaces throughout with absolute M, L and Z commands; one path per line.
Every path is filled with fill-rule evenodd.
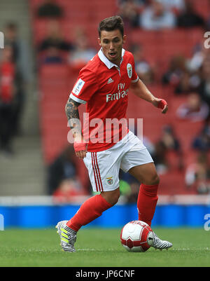
M 83 159 L 93 191 L 113 191 L 119 187 L 119 171 L 128 172 L 132 167 L 153 163 L 153 158 L 143 142 L 128 134 L 110 149 L 87 152 Z

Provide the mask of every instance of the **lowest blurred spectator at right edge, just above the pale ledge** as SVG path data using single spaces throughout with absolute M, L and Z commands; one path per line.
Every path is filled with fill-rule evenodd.
M 210 191 L 210 165 L 206 153 L 199 153 L 195 163 L 186 169 L 186 186 L 197 193 L 209 193 Z

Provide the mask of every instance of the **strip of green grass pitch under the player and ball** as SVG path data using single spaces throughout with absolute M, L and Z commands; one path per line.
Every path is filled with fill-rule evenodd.
M 173 243 L 167 250 L 152 247 L 145 253 L 127 252 L 120 244 L 120 229 L 84 228 L 78 232 L 76 253 L 62 252 L 54 229 L 0 231 L 0 266 L 141 267 L 210 266 L 210 232 L 204 228 L 156 228 Z

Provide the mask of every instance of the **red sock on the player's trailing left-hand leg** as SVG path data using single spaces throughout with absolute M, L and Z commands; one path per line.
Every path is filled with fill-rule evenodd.
M 97 219 L 97 217 L 102 215 L 102 212 L 110 207 L 112 207 L 112 205 L 109 204 L 101 194 L 93 196 L 80 206 L 78 212 L 76 212 L 66 225 L 74 231 L 78 231 L 81 226 L 85 226 L 94 219 Z

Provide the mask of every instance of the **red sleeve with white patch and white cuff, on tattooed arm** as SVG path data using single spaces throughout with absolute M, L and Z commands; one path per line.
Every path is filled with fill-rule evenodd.
M 76 102 L 86 104 L 97 90 L 98 83 L 94 72 L 90 69 L 82 69 L 69 97 Z

